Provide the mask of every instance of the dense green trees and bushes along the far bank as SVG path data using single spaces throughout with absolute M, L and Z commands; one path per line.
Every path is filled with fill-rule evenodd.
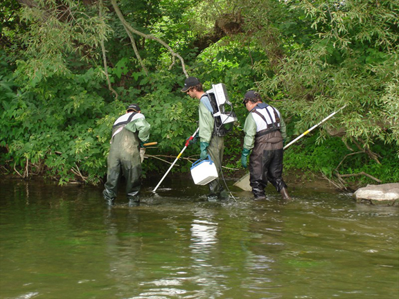
M 7 0 L 0 16 L 2 172 L 100 183 L 133 102 L 159 143 L 144 169 L 163 172 L 195 131 L 188 74 L 227 85 L 239 121 L 224 165 L 240 167 L 241 98 L 257 89 L 290 139 L 346 105 L 286 150 L 285 170 L 339 187 L 399 181 L 397 1 Z

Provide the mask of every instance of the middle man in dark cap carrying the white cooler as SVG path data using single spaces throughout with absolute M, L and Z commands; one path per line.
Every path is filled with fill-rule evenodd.
M 199 132 L 189 144 L 195 143 L 199 137 L 199 147 L 201 149 L 200 158 L 206 159 L 211 156 L 218 170 L 218 179 L 208 183 L 208 200 L 228 199 L 229 194 L 220 184 L 219 178 L 222 176 L 222 160 L 224 151 L 224 138 L 214 134 L 215 120 L 213 119 L 213 108 L 209 102 L 208 95 L 204 92 L 202 83 L 195 77 L 188 77 L 184 81 L 182 92 L 187 93 L 190 98 L 199 100 Z

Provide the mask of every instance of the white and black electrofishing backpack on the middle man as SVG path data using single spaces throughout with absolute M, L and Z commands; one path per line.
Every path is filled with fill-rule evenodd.
M 216 136 L 225 136 L 233 129 L 233 123 L 237 121 L 237 116 L 233 112 L 233 106 L 227 95 L 226 85 L 223 83 L 212 84 L 212 89 L 206 91 L 206 94 L 209 96 L 215 119 L 213 133 Z M 230 106 L 230 111 L 225 109 L 226 105 Z

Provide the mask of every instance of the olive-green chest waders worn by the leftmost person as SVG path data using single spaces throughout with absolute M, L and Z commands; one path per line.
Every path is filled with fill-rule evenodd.
M 130 205 L 139 204 L 141 188 L 141 158 L 138 133 L 125 129 L 134 115 L 127 121 L 117 123 L 112 129 L 112 144 L 107 158 L 107 182 L 103 191 L 104 199 L 112 203 L 118 194 L 121 176 L 125 176 L 125 193 Z

